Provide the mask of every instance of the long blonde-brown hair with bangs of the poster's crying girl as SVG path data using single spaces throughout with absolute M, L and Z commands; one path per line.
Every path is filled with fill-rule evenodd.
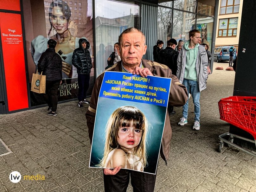
M 138 146 L 134 148 L 133 154 L 139 157 L 138 161 L 142 163 L 142 169 L 147 165 L 146 152 L 146 137 L 149 128 L 149 123 L 143 112 L 137 107 L 122 106 L 117 108 L 109 117 L 106 124 L 106 142 L 104 148 L 104 155 L 99 162 L 99 167 L 106 166 L 108 154 L 114 149 L 123 149 L 118 144 L 118 131 L 120 127 L 133 126 L 142 131 L 142 137 Z

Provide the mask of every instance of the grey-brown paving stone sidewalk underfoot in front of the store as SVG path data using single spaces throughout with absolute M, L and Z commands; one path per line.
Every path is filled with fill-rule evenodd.
M 228 63 L 215 63 L 215 66 Z M 192 98 L 188 124 L 178 126 L 182 108 L 170 116 L 173 137 L 168 166 L 159 158 L 155 191 L 256 192 L 256 158 L 235 148 L 217 152 L 218 136 L 229 130 L 219 119 L 218 101 L 232 96 L 234 71 L 213 70 L 201 93 L 201 128 L 192 131 Z M 90 142 L 85 112 L 76 101 L 59 104 L 58 115 L 47 107 L 0 115 L 0 138 L 12 151 L 0 156 L 0 192 L 104 191 L 102 170 L 89 169 Z M 18 171 L 22 179 L 10 182 Z M 45 180 L 23 180 L 24 175 Z M 41 177 L 42 178 L 42 177 Z M 132 191 L 129 185 L 127 191 Z

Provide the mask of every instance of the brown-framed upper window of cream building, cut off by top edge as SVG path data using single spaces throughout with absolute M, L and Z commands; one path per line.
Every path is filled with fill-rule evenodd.
M 238 13 L 240 0 L 221 0 L 220 15 Z

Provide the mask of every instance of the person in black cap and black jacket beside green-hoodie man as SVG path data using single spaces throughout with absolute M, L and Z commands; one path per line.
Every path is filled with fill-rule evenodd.
M 175 50 L 177 41 L 170 39 L 167 41 L 167 47 L 160 52 L 159 63 L 166 65 L 172 71 L 173 75 L 177 72 L 177 57 L 178 52 Z M 169 115 L 173 115 L 176 112 L 173 111 L 173 106 L 168 107 Z

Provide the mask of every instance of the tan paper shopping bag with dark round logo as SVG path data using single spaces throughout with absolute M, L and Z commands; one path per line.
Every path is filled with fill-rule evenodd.
M 45 93 L 46 76 L 42 75 L 42 73 L 38 74 L 38 71 L 36 71 L 36 74 L 33 73 L 31 91 L 35 93 Z

